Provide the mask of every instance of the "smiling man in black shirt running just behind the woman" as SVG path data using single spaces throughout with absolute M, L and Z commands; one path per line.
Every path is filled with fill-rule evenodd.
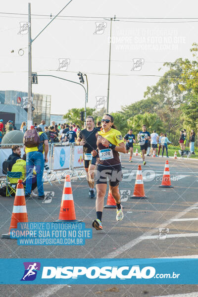
M 97 148 L 96 133 L 99 128 L 94 127 L 94 118 L 88 116 L 86 118 L 86 129 L 80 131 L 76 144 L 83 146 L 83 163 L 87 172 L 87 181 L 90 187 L 89 197 L 95 198 L 94 189 L 94 172 L 96 168 L 96 157 L 92 157 L 91 152 Z

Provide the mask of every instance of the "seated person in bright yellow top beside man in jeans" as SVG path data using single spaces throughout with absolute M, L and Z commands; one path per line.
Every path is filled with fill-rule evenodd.
M 21 173 L 21 177 L 15 176 L 16 173 Z M 26 186 L 26 153 L 24 153 L 22 159 L 16 160 L 16 163 L 12 166 L 11 172 L 8 173 L 8 180 L 11 184 L 12 190 L 13 185 L 17 185 L 18 179 L 23 180 L 23 185 Z M 33 177 L 32 177 L 32 193 L 31 197 L 36 197 L 37 195 L 33 192 L 34 189 L 37 187 L 37 177 L 36 177 L 36 172 L 33 172 Z M 13 191 L 14 192 L 14 191 Z M 12 192 L 12 193 L 13 193 Z M 15 192 L 14 192 L 15 193 Z

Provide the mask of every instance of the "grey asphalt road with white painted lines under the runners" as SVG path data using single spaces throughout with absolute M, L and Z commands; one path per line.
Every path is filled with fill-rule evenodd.
M 159 188 L 166 158 L 147 157 L 142 166 L 147 199 L 131 199 L 140 156 L 128 163 L 122 156 L 123 181 L 119 185 L 124 206 L 124 219 L 116 222 L 116 210 L 104 209 L 102 231 L 93 230 L 93 238 L 85 246 L 17 246 L 15 240 L 0 239 L 1 258 L 160 258 L 198 257 L 198 161 L 169 158 L 174 188 Z M 72 180 L 77 219 L 91 228 L 96 218 L 95 199 L 88 197 L 85 178 Z M 27 201 L 29 222 L 52 222 L 58 219 L 63 180 L 61 184 L 45 184 L 53 191 L 51 203 L 37 198 Z M 123 195 L 124 194 L 124 195 Z M 106 201 L 107 197 L 105 197 Z M 0 234 L 10 225 L 13 198 L 0 197 Z M 186 220 L 183 220 L 186 219 Z M 165 240 L 159 240 L 159 228 L 165 229 Z M 190 234 L 190 235 L 189 235 Z M 167 236 L 166 236 L 167 235 Z M 197 285 L 0 285 L 6 297 L 155 297 L 195 292 Z M 182 295 L 181 295 L 182 296 Z M 185 296 L 186 297 L 186 296 Z

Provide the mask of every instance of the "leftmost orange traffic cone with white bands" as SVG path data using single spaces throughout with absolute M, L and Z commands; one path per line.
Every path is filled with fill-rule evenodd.
M 16 195 L 14 198 L 14 205 L 11 216 L 11 223 L 9 227 L 9 233 L 2 234 L 2 238 L 10 238 L 11 229 L 17 229 L 17 223 L 19 222 L 28 222 L 28 214 L 25 203 L 25 195 L 24 188 L 22 184 L 22 180 L 18 180 L 18 184 L 16 186 Z

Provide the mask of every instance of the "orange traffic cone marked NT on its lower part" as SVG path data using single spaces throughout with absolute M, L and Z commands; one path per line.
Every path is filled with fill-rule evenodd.
M 70 176 L 65 176 L 64 189 L 62 193 L 62 201 L 60 204 L 59 219 L 54 223 L 80 223 L 76 220 L 73 194 L 71 189 Z

